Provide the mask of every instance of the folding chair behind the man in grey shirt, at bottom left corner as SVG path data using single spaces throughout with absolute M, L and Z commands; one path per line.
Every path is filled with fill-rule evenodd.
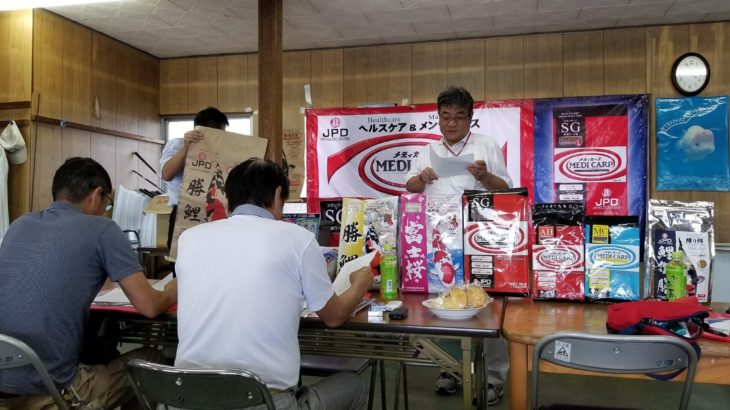
M 61 397 L 61 392 L 58 391 L 53 379 L 51 379 L 35 351 L 14 337 L 0 334 L 0 370 L 22 366 L 33 366 L 33 369 L 45 384 L 48 394 L 53 397 L 56 406 L 61 410 L 68 409 L 66 401 Z

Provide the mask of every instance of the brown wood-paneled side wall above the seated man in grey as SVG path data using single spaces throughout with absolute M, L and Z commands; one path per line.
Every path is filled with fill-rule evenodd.
M 33 115 L 160 138 L 158 59 L 43 10 L 33 12 L 29 38 Z M 132 170 L 159 181 L 132 153 L 157 170 L 160 144 L 48 124 L 35 125 L 32 140 L 33 172 L 25 186 L 31 201 L 20 213 L 48 206 L 53 174 L 71 156 L 99 161 L 115 187 L 154 189 Z

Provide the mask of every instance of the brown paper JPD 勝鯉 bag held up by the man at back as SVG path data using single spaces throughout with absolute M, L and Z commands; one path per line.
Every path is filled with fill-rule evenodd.
M 195 129 L 203 133 L 203 140 L 191 145 L 185 157 L 170 249 L 173 260 L 177 258 L 177 238 L 186 229 L 228 217 L 228 200 L 223 191 L 228 173 L 251 157 L 263 158 L 268 143 L 265 138 L 214 128 L 198 126 Z

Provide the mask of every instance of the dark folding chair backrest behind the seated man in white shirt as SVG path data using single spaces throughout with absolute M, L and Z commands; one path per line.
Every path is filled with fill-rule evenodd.
M 246 370 L 180 369 L 144 360 L 127 362 L 132 390 L 147 410 L 157 404 L 195 410 L 275 410 L 266 384 Z

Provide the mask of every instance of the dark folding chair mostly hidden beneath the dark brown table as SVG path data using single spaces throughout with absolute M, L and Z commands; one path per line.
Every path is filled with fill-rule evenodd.
M 381 363 L 382 366 L 382 363 Z M 373 408 L 373 396 L 375 394 L 375 373 L 378 368 L 378 360 L 356 359 L 350 357 L 325 356 L 317 354 L 301 355 L 299 373 L 302 376 L 327 377 L 339 372 L 355 372 L 362 374 L 370 368 L 370 392 L 368 393 L 368 410 Z M 300 376 L 301 384 L 301 376 Z M 380 387 L 385 408 L 385 373 L 381 368 Z

